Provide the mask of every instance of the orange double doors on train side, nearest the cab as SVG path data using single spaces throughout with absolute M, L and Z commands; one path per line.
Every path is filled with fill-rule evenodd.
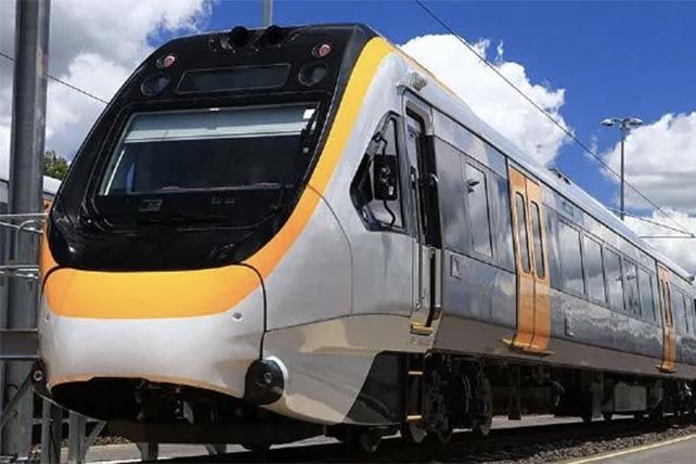
M 551 312 L 541 188 L 511 167 L 510 192 L 517 266 L 517 327 L 513 339 L 506 341 L 525 352 L 547 355 Z

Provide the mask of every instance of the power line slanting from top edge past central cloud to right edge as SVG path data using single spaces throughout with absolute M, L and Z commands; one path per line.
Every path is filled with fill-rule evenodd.
M 481 55 L 474 47 L 472 47 L 466 40 L 464 40 L 462 37 L 460 37 L 454 29 L 452 29 L 443 20 L 441 20 L 433 10 L 427 8 L 422 0 L 413 0 L 423 11 L 425 11 L 433 20 L 435 20 L 440 26 L 446 28 L 452 36 L 454 36 L 466 49 L 468 49 L 472 53 L 474 53 L 486 66 L 491 68 L 493 73 L 495 73 L 501 79 L 505 81 L 510 87 L 513 88 L 523 99 L 525 99 L 529 104 L 531 104 L 534 108 L 537 108 L 542 115 L 546 117 L 551 123 L 553 123 L 554 126 L 556 126 L 558 129 L 560 129 L 567 137 L 570 138 L 575 143 L 577 143 L 585 153 L 588 153 L 590 156 L 592 156 L 600 165 L 602 165 L 607 171 L 613 173 L 616 178 L 621 178 L 621 176 L 611 169 L 609 165 L 607 165 L 604 159 L 596 153 L 594 153 L 588 145 L 585 145 L 580 139 L 578 139 L 570 130 L 568 130 L 564 125 L 558 123 L 556 118 L 554 118 L 546 109 L 542 108 L 537 102 L 534 102 L 531 98 L 529 98 L 525 92 L 523 92 L 513 81 L 511 81 L 503 73 L 501 73 L 491 62 L 489 62 L 486 56 Z M 672 218 L 670 215 L 667 214 L 660 206 L 655 204 L 650 198 L 645 196 L 643 192 L 641 192 L 636 186 L 631 184 L 628 181 L 623 182 L 626 185 L 631 188 L 637 195 L 643 198 L 645 202 L 647 202 L 649 205 L 652 205 L 657 211 L 661 212 L 665 215 L 672 223 L 676 224 L 680 227 L 682 230 L 680 232 L 688 235 L 693 235 L 691 232 L 688 232 L 688 229 L 679 223 L 674 218 Z

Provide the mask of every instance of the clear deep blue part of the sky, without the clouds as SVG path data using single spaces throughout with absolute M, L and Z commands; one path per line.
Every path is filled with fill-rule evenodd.
M 218 2 L 205 28 L 258 26 L 260 4 Z M 505 60 L 521 63 L 530 80 L 566 89 L 560 113 L 581 140 L 590 144 L 596 138 L 600 152 L 618 138 L 618 131 L 598 126 L 605 116 L 635 114 L 654 121 L 665 113 L 696 109 L 696 3 L 426 0 L 426 4 L 468 41 L 503 41 Z M 362 22 L 397 43 L 443 33 L 408 0 L 274 3 L 275 24 L 326 22 Z M 576 145 L 566 144 L 556 165 L 603 203 L 616 201 L 617 185 L 603 179 L 597 165 Z

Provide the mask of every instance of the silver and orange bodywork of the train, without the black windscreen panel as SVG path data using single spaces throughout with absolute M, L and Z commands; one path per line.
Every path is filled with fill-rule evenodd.
M 433 357 L 478 373 L 462 378 L 488 379 L 466 390 L 471 399 L 486 394 L 486 385 L 505 386 L 492 373 L 501 366 L 546 370 L 555 378 L 544 384 L 550 391 L 563 384 L 568 395 L 575 381 L 559 381 L 568 373 L 601 373 L 647 396 L 652 383 L 686 386 L 696 377 L 687 273 L 513 146 L 398 48 L 377 36 L 365 40 L 335 104 L 288 219 L 244 262 L 165 271 L 73 268 L 56 263 L 47 241 L 39 328 L 47 388 L 57 401 L 141 422 L 124 428 L 140 438 L 157 421 L 140 411 L 118 417 L 100 405 L 118 405 L 120 381 L 194 391 L 181 394 L 194 410 L 196 395 L 215 392 L 215 401 L 239 401 L 323 431 L 402 423 L 437 429 L 447 428 L 437 418 L 447 413 L 407 391 L 410 374 L 423 377 L 420 388 L 433 385 Z M 511 172 L 527 185 L 526 206 L 516 211 Z M 540 227 L 518 229 L 532 220 L 532 207 L 541 209 Z M 520 234 L 529 234 L 526 259 Z M 589 241 L 604 257 L 600 274 L 591 269 Z M 620 261 L 618 281 L 609 253 Z M 525 267 L 531 300 L 520 296 L 530 292 L 520 278 Z M 661 302 L 663 282 L 669 306 Z M 198 301 L 214 309 L 197 312 Z M 114 313 L 118 308 L 124 315 Z M 531 330 L 521 326 L 529 314 Z M 675 352 L 666 349 L 669 343 Z M 655 409 L 642 392 L 630 401 Z M 146 411 L 145 400 L 137 403 L 129 408 Z M 610 412 L 594 407 L 590 417 L 597 408 Z M 198 423 L 195 414 L 183 415 L 188 426 Z M 157 430 L 164 441 L 195 439 Z

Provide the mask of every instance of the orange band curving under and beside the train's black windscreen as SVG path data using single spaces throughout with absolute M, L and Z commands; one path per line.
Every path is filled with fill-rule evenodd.
M 350 75 L 326 144 L 287 222 L 246 262 L 263 279 L 275 269 L 302 232 L 328 185 L 343 155 L 368 88 L 385 56 L 395 50 L 383 38 L 363 49 Z M 47 246 L 41 270 L 53 263 Z M 252 270 L 230 266 L 176 272 L 95 272 L 61 269 L 46 282 L 53 312 L 98 319 L 182 318 L 229 310 L 259 286 Z

